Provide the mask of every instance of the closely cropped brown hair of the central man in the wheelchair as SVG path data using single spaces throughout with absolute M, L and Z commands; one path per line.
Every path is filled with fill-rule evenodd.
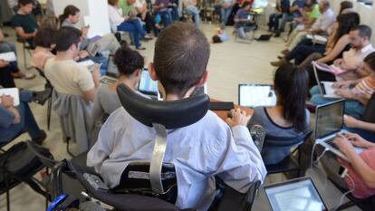
M 171 24 L 155 43 L 154 65 L 167 93 L 183 97 L 206 72 L 210 46 L 192 24 Z

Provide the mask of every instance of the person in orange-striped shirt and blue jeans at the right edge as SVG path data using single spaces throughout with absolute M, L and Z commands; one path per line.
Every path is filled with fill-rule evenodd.
M 375 52 L 370 53 L 363 60 L 363 72 L 369 72 L 365 78 L 342 81 L 333 83 L 332 87 L 336 89 L 335 94 L 346 99 L 345 113 L 355 118 L 361 118 L 364 112 L 364 106 L 370 100 L 375 91 Z M 351 87 L 354 87 L 351 89 Z M 324 104 L 335 99 L 324 98 L 317 86 L 312 87 L 310 91 L 311 103 L 314 105 Z

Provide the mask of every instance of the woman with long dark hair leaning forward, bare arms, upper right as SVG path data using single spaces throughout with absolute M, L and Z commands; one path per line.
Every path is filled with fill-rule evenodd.
M 351 49 L 349 36 L 351 29 L 359 24 L 360 15 L 357 13 L 351 12 L 337 16 L 337 21 L 333 27 L 333 33 L 330 35 L 325 46 L 325 52 L 310 54 L 299 64 L 299 67 L 309 67 L 312 61 L 331 64 L 335 59 L 341 58 L 342 53 Z

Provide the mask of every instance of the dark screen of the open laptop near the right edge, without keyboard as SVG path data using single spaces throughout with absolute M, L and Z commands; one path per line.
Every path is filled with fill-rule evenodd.
M 333 101 L 316 108 L 315 139 L 321 139 L 342 129 L 344 100 Z

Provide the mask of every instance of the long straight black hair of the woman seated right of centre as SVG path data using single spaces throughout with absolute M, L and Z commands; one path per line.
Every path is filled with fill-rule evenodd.
M 292 123 L 296 131 L 303 132 L 307 128 L 305 103 L 309 73 L 293 64 L 280 66 L 274 74 L 274 91 L 277 102 L 284 108 L 284 120 Z

